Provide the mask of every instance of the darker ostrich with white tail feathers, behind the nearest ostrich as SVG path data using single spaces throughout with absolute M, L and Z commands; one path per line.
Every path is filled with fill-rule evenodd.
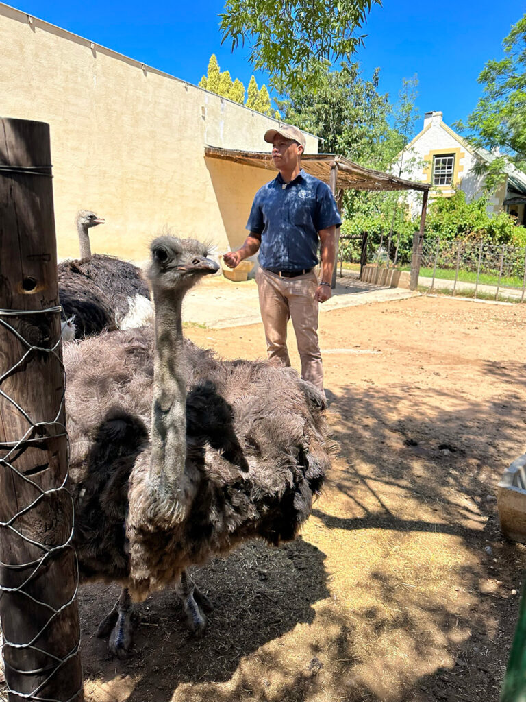
M 76 214 L 81 258 L 58 265 L 64 319 L 74 320 L 76 338 L 103 329 L 133 329 L 153 320 L 149 289 L 142 271 L 115 256 L 91 253 L 89 230 L 104 219 L 89 210 Z

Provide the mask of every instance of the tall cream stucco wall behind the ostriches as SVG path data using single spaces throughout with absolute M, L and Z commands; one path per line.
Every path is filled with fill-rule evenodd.
M 2 117 L 50 124 L 58 256 L 78 256 L 74 216 L 106 224 L 92 250 L 147 258 L 163 227 L 225 251 L 275 171 L 205 159 L 205 145 L 270 150 L 276 120 L 0 4 Z M 306 152 L 318 140 L 306 135 Z

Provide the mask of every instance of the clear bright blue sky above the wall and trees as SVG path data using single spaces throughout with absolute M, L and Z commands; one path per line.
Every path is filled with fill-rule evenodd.
M 245 86 L 252 74 L 248 51 L 221 46 L 222 0 L 13 0 L 11 6 L 86 37 L 147 65 L 197 84 L 211 53 L 222 70 Z M 502 39 L 525 12 L 524 0 L 415 3 L 384 0 L 375 6 L 357 58 L 364 77 L 381 68 L 380 89 L 396 102 L 402 79 L 419 78 L 420 113 L 442 110 L 452 124 L 475 107 L 477 77 L 490 58 L 501 58 Z M 258 84 L 266 81 L 256 74 Z

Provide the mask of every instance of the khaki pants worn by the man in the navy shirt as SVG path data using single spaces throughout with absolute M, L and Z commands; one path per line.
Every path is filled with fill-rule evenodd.
M 280 278 L 259 267 L 256 273 L 259 308 L 267 338 L 269 359 L 278 359 L 290 366 L 287 349 L 287 322 L 292 319 L 302 378 L 310 380 L 323 392 L 323 365 L 318 345 L 318 288 L 316 274 L 311 271 L 294 278 Z

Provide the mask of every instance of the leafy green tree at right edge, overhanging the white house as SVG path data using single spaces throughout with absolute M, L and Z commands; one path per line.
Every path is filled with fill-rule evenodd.
M 503 41 L 504 58 L 491 60 L 478 77 L 483 95 L 467 118 L 455 127 L 475 148 L 492 152 L 490 164 L 476 170 L 486 174 L 487 190 L 504 178 L 506 164 L 526 169 L 526 15 Z

